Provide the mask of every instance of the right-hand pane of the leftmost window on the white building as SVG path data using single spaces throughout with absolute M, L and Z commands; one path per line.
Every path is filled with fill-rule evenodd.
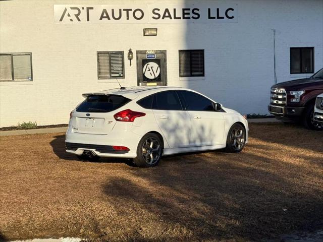
M 14 79 L 32 80 L 30 55 L 13 55 Z

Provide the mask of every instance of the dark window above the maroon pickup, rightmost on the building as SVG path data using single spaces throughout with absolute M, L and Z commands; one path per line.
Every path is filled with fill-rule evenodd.
M 290 48 L 291 74 L 314 72 L 314 47 Z

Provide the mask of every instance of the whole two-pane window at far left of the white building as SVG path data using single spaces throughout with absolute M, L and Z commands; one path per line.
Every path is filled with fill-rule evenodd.
M 0 81 L 32 81 L 31 53 L 0 53 Z

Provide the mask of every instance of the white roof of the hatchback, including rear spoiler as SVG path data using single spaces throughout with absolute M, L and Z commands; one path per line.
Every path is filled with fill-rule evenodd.
M 87 97 L 89 95 L 114 94 L 114 95 L 121 95 L 129 99 L 135 99 L 138 96 L 141 96 L 141 95 L 146 96 L 149 94 L 156 93 L 158 91 L 162 91 L 163 89 L 164 90 L 178 90 L 178 89 L 189 90 L 182 87 L 169 87 L 169 86 L 141 86 L 141 87 L 135 86 L 135 87 L 126 87 L 124 89 L 115 88 L 115 89 L 108 89 L 108 90 L 103 90 L 99 92 L 89 92 L 89 93 L 82 94 L 82 96 Z

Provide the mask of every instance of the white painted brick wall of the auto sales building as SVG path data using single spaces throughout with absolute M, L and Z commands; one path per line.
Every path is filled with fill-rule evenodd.
M 290 75 L 290 47 L 314 47 L 314 69 L 323 67 L 323 1 L 231 1 L 238 23 L 54 24 L 55 4 L 148 5 L 160 1 L 0 2 L 0 52 L 32 52 L 32 82 L 0 83 L 0 127 L 37 121 L 67 124 L 84 92 L 118 87 L 97 80 L 96 51 L 125 51 L 124 86 L 136 85 L 136 59 L 128 49 L 166 49 L 169 86 L 189 87 L 241 113 L 267 113 L 274 84 L 276 29 L 278 82 Z M 214 2 L 214 1 L 212 1 Z M 184 7 L 189 1 L 163 1 Z M 195 1 L 207 5 L 208 1 Z M 226 1 L 228 3 L 228 1 Z M 158 28 L 143 37 L 143 28 Z M 179 49 L 205 50 L 205 78 L 179 78 Z

